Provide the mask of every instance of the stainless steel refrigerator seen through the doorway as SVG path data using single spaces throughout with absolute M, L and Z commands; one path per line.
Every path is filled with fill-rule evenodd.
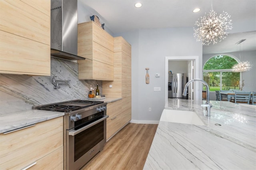
M 182 95 L 186 83 L 186 73 L 169 74 L 168 97 L 186 99 L 187 97 Z

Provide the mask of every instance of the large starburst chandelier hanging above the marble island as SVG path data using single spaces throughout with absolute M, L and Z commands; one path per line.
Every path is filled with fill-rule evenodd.
M 194 28 L 196 41 L 202 41 L 202 45 L 221 42 L 228 35 L 226 31 L 232 29 L 232 20 L 229 20 L 229 18 L 230 15 L 224 11 L 217 16 L 212 8 L 208 15 L 196 21 L 195 25 L 198 27 Z

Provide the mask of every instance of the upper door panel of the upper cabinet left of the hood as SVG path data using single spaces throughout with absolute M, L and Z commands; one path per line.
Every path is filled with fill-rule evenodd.
M 43 10 L 48 14 L 30 6 L 31 3 L 1 0 L 0 30 L 50 45 L 50 0 L 40 0 L 40 4 L 44 4 L 44 9 L 49 8 Z

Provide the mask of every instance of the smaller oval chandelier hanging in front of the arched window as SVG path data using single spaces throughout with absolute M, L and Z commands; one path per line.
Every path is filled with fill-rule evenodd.
M 249 61 L 241 61 L 241 43 L 244 42 L 246 39 L 242 39 L 239 42 L 235 43 L 236 45 L 240 44 L 240 51 L 239 51 L 239 56 L 240 56 L 240 62 L 237 63 L 232 67 L 232 72 L 243 72 L 243 71 L 249 71 L 252 68 L 252 64 Z M 237 46 L 236 46 L 237 48 Z

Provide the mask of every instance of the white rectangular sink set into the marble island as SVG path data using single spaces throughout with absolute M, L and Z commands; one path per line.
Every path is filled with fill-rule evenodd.
M 160 121 L 185 123 L 190 125 L 205 125 L 194 111 L 164 109 Z

